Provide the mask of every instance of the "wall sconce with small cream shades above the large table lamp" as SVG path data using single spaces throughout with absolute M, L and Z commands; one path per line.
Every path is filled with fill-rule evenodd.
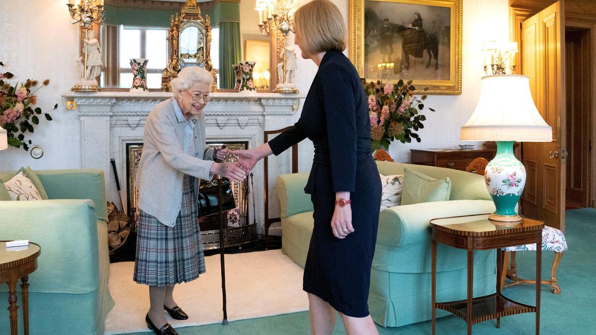
M 482 44 L 486 75 L 511 75 L 516 72 L 516 42 L 488 41 Z

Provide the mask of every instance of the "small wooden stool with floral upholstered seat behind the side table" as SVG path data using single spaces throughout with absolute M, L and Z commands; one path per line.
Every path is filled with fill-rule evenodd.
M 502 249 L 505 252 L 503 259 L 503 269 L 501 272 L 501 287 L 515 286 L 522 283 L 535 284 L 535 280 L 527 280 L 517 278 L 516 270 L 516 252 L 524 250 L 536 251 L 536 244 L 526 244 L 524 246 L 507 247 Z M 563 256 L 563 252 L 567 250 L 567 242 L 563 232 L 559 229 L 544 226 L 542 229 L 542 250 L 550 250 L 555 253 L 555 258 L 552 261 L 551 279 L 543 280 L 541 284 L 548 284 L 552 287 L 552 293 L 561 293 L 561 288 L 557 284 L 557 266 Z M 511 265 L 509 265 L 509 253 L 511 253 Z M 505 276 L 513 283 L 505 285 Z

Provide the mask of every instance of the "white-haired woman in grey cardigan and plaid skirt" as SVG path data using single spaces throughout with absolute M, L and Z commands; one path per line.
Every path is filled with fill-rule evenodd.
M 200 67 L 183 69 L 172 80 L 173 97 L 158 104 L 145 124 L 136 187 L 139 219 L 134 281 L 149 286 L 151 307 L 145 321 L 157 334 L 176 334 L 164 310 L 176 320 L 188 315 L 173 297 L 174 285 L 205 272 L 198 226 L 200 179 L 222 175 L 246 178 L 225 160 L 229 150 L 207 147 L 203 109 L 211 100 L 213 77 Z

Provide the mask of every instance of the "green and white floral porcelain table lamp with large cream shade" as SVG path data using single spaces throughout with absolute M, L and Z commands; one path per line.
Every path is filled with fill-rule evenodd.
M 526 185 L 526 169 L 514 156 L 513 143 L 552 141 L 552 129 L 532 100 L 529 77 L 482 77 L 480 99 L 461 127 L 461 139 L 496 142 L 495 158 L 485 169 L 486 187 L 496 207 L 489 219 L 512 224 L 521 221 L 515 209 Z

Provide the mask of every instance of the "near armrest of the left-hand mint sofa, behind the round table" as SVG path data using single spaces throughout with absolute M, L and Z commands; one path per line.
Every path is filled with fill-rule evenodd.
M 38 268 L 29 276 L 32 292 L 98 289 L 97 225 L 91 200 L 0 201 L 1 239 L 29 240 L 41 246 Z

